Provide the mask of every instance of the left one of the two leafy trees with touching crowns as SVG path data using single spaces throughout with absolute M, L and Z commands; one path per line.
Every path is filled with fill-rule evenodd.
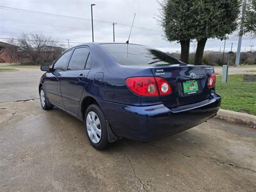
M 170 42 L 177 41 L 181 45 L 180 60 L 188 63 L 189 45 L 193 36 L 192 2 L 188 0 L 165 0 L 161 5 L 160 24 L 164 28 L 164 36 Z

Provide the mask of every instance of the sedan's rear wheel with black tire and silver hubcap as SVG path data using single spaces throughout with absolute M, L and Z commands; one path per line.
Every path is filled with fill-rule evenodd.
M 84 115 L 84 126 L 88 140 L 97 150 L 109 147 L 106 119 L 96 104 L 90 105 Z

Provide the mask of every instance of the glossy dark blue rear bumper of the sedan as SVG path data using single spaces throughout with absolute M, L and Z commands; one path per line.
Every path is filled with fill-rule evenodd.
M 220 108 L 221 97 L 212 93 L 210 99 L 170 109 L 163 104 L 127 106 L 113 102 L 99 102 L 116 136 L 149 141 L 202 124 L 216 115 Z

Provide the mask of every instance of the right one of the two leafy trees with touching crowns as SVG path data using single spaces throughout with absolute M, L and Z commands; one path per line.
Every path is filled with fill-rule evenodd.
M 193 32 L 198 42 L 195 65 L 202 64 L 208 38 L 223 40 L 237 29 L 240 0 L 193 0 L 191 10 L 195 15 Z

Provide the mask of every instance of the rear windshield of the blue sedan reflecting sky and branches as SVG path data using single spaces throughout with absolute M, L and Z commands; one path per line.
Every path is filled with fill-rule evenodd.
M 172 56 L 143 45 L 101 44 L 121 65 L 174 65 L 180 64 Z

